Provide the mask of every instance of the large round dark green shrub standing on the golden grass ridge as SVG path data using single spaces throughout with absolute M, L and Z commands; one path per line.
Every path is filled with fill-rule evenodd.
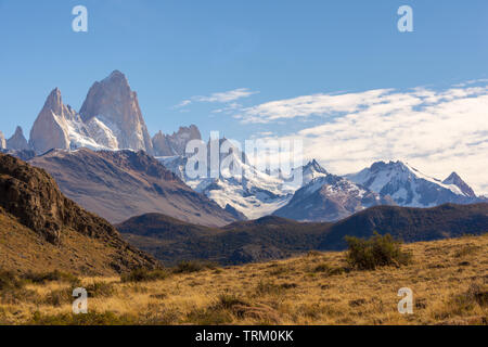
M 370 240 L 346 236 L 348 244 L 347 261 L 359 270 L 374 270 L 384 266 L 408 265 L 411 254 L 400 249 L 401 243 L 390 234 L 384 236 L 377 232 Z

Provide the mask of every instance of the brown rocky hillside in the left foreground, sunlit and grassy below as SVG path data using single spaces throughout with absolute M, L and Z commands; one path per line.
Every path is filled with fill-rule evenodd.
M 66 198 L 44 170 L 0 154 L 0 267 L 110 274 L 153 268 L 104 219 Z

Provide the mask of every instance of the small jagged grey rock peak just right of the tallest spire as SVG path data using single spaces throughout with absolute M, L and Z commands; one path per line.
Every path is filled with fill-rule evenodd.
M 157 156 L 184 155 L 187 144 L 192 140 L 202 140 L 202 134 L 195 125 L 180 127 L 178 132 L 164 134 L 158 132 L 153 138 L 154 153 Z

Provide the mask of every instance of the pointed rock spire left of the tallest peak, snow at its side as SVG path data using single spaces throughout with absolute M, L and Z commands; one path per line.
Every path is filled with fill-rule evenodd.
M 52 149 L 69 149 L 69 131 L 66 119 L 76 117 L 76 112 L 63 104 L 60 89 L 48 97 L 30 130 L 29 144 L 38 154 Z

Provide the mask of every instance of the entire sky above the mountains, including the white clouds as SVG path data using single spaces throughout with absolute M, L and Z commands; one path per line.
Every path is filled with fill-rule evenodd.
M 119 69 L 151 134 L 300 139 L 335 174 L 401 159 L 488 194 L 487 39 L 486 0 L 0 0 L 0 130 Z

